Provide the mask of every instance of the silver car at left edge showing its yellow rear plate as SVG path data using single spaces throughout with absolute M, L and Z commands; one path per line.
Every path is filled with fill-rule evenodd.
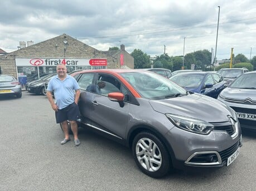
M 21 83 L 13 76 L 0 74 L 0 96 L 22 97 Z

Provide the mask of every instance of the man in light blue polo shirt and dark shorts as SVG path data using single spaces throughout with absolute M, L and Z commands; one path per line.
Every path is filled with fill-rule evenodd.
M 54 91 L 55 102 L 52 97 L 52 91 Z M 48 84 L 47 98 L 52 109 L 55 110 L 56 123 L 61 123 L 65 133 L 65 138 L 61 141 L 61 144 L 65 144 L 70 140 L 67 123 L 67 120 L 69 120 L 75 145 L 80 145 L 78 124 L 76 123 L 80 115 L 78 108 L 79 96 L 80 87 L 78 82 L 76 82 L 75 78 L 67 75 L 67 68 L 64 64 L 59 64 L 57 66 L 57 75 L 52 77 Z

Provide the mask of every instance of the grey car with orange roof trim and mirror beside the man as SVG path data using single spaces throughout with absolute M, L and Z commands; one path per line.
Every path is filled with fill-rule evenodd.
M 139 69 L 73 75 L 81 91 L 79 127 L 131 148 L 138 168 L 150 177 L 173 168 L 229 166 L 239 154 L 236 113 L 214 98 Z M 105 83 L 102 93 L 86 90 L 99 81 Z

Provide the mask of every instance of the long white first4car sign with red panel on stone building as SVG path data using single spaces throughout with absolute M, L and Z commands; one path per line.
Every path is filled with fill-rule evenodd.
M 15 58 L 16 66 L 107 66 L 105 58 Z

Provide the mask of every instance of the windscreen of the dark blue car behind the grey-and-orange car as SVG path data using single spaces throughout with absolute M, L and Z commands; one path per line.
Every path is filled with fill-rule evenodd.
M 204 76 L 201 74 L 177 74 L 170 78 L 171 81 L 186 88 L 198 87 Z

